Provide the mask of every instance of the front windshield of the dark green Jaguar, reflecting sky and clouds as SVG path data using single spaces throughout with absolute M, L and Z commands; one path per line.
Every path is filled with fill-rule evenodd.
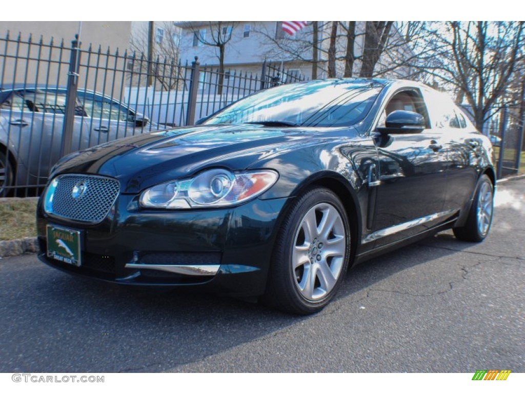
M 239 100 L 203 124 L 351 126 L 365 118 L 382 88 L 382 84 L 373 81 L 325 80 L 282 85 Z

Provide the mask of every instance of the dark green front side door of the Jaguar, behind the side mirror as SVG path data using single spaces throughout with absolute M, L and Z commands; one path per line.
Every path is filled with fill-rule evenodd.
M 447 155 L 443 133 L 430 128 L 419 89 L 396 92 L 384 115 L 406 110 L 423 115 L 427 127 L 419 133 L 375 137 L 379 181 L 370 241 L 381 247 L 432 227 L 443 212 Z M 381 120 L 380 120 L 381 122 Z

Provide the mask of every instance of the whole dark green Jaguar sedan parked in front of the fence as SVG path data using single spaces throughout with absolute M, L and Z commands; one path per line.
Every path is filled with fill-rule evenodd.
M 376 254 L 450 228 L 484 240 L 494 191 L 489 139 L 445 94 L 318 80 L 61 159 L 38 204 L 39 258 L 309 314 Z

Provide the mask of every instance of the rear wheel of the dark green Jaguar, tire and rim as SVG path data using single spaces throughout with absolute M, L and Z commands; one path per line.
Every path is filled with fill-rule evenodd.
M 468 242 L 481 242 L 487 237 L 493 215 L 493 185 L 486 174 L 481 175 L 470 206 L 465 226 L 453 229 L 458 240 Z

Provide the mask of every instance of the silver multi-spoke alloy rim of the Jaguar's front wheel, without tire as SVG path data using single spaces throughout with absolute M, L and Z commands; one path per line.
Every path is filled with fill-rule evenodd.
M 325 298 L 337 284 L 343 267 L 346 234 L 339 211 L 331 204 L 313 206 L 295 235 L 292 269 L 300 294 L 310 300 Z

